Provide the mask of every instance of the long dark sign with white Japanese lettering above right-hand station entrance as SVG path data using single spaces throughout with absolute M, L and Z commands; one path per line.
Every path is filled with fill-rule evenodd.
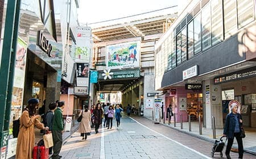
M 220 84 L 225 82 L 232 82 L 236 80 L 242 80 L 245 78 L 255 77 L 256 67 L 243 69 L 237 72 L 225 74 L 223 76 L 218 76 L 214 78 L 214 84 Z

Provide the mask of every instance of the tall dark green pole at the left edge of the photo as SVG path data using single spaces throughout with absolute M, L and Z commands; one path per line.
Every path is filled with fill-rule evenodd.
M 1 139 L 1 156 L 6 157 L 11 98 L 13 94 L 14 67 L 16 57 L 16 41 L 19 28 L 19 10 L 20 0 L 7 2 L 5 32 L 3 37 L 3 49 L 0 68 L 0 83 L 3 87 L 0 89 L 0 139 Z

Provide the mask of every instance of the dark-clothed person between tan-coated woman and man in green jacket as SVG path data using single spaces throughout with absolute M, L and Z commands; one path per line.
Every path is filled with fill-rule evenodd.
M 56 108 L 56 104 L 51 102 L 49 103 L 49 110 L 46 113 L 46 126 L 49 128 L 49 131 L 52 131 L 53 116 Z M 52 154 L 52 147 L 49 148 L 49 154 Z

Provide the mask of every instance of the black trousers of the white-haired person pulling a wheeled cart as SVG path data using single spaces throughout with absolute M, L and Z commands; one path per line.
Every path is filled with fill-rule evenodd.
M 242 137 L 240 137 L 240 132 L 234 133 L 234 137 L 236 137 L 237 144 L 238 144 L 238 153 L 239 153 L 238 158 L 243 158 L 243 141 L 242 141 Z M 230 149 L 234 142 L 234 137 L 228 138 L 228 145 L 226 145 L 226 152 L 225 152 L 226 154 L 230 153 Z

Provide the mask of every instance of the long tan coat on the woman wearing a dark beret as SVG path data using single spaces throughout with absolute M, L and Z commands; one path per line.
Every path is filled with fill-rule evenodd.
M 31 159 L 32 150 L 35 146 L 35 126 L 39 129 L 44 128 L 44 124 L 38 119 L 32 120 L 28 111 L 23 111 L 20 116 L 19 135 L 16 147 L 17 159 Z

